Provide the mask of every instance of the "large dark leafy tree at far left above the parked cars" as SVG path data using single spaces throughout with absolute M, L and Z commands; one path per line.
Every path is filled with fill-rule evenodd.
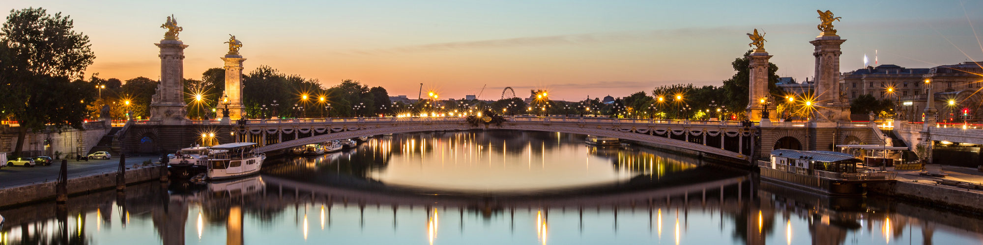
M 95 55 L 88 36 L 76 32 L 61 13 L 41 8 L 11 10 L 0 27 L 0 111 L 21 123 L 15 155 L 20 155 L 28 130 L 74 127 L 84 129 L 86 107 L 94 101 L 94 86 L 81 79 Z M 76 102 L 78 101 L 78 102 Z

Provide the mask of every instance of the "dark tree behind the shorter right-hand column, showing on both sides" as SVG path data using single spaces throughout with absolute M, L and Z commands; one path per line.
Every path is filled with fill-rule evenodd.
M 744 109 L 747 108 L 749 102 L 747 96 L 751 82 L 749 70 L 751 59 L 748 58 L 750 54 L 751 50 L 748 50 L 744 52 L 744 56 L 741 58 L 734 59 L 734 62 L 730 63 L 730 65 L 737 73 L 734 73 L 729 79 L 723 80 L 723 105 L 737 115 L 744 114 Z M 779 76 L 775 74 L 776 72 L 779 72 L 779 66 L 775 66 L 775 64 L 769 62 L 768 91 L 771 94 L 784 94 L 779 85 L 776 84 L 779 82 Z

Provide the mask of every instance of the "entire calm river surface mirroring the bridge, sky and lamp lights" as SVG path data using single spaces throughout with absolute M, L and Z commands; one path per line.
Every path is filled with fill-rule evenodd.
M 0 244 L 983 244 L 983 220 L 830 198 L 576 134 L 378 136 L 205 185 L 0 210 Z

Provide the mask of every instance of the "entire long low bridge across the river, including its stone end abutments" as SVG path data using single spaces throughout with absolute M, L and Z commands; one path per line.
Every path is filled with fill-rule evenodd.
M 750 163 L 772 149 L 832 150 L 834 144 L 884 142 L 873 123 L 753 123 L 650 121 L 607 118 L 508 117 L 500 125 L 473 125 L 464 118 L 345 118 L 250 120 L 245 124 L 187 121 L 182 124 L 128 123 L 118 135 L 125 152 L 173 152 L 192 144 L 255 142 L 276 152 L 325 141 L 386 133 L 509 129 L 588 134 L 724 161 Z M 202 135 L 204 135 L 202 137 Z

